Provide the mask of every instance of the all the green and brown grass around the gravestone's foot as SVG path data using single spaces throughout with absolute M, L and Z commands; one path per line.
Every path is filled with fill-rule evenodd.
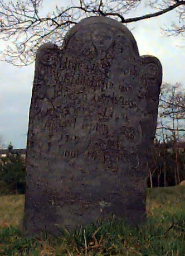
M 53 238 L 26 238 L 21 231 L 24 196 L 0 197 L 0 255 L 185 255 L 185 186 L 147 189 L 147 224 L 131 229 L 102 221 Z

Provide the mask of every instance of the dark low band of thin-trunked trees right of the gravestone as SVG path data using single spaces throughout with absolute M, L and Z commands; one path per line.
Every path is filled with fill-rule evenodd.
M 160 143 L 155 140 L 150 163 L 148 187 L 177 186 L 185 179 L 185 150 L 174 140 Z

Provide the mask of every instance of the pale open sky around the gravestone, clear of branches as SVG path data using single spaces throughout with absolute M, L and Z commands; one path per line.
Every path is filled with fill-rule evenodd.
M 41 14 L 44 16 L 58 6 L 69 4 L 66 1 L 43 2 Z M 125 18 L 140 16 L 152 10 L 141 5 Z M 182 83 L 185 89 L 185 40 L 182 36 L 165 37 L 160 27 L 170 25 L 172 21 L 178 22 L 176 11 L 165 15 L 150 18 L 139 22 L 130 23 L 128 28 L 138 44 L 140 55 L 154 55 L 162 63 L 163 83 Z M 3 46 L 3 42 L 0 42 Z M 178 46 L 183 46 L 178 47 Z M 4 144 L 12 142 L 14 148 L 26 148 L 28 115 L 32 93 L 35 63 L 22 68 L 14 67 L 4 61 L 0 61 L 0 135 L 4 138 Z

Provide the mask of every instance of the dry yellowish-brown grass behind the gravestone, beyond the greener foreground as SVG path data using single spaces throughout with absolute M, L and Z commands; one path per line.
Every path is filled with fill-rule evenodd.
M 161 219 L 164 212 L 182 214 L 185 201 L 185 187 L 148 188 L 146 212 L 148 217 Z M 0 227 L 14 226 L 22 228 L 25 195 L 0 196 Z

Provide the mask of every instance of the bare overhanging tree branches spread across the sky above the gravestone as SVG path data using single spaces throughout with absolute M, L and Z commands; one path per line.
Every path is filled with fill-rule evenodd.
M 103 15 L 127 24 L 177 10 L 181 26 L 172 23 L 171 30 L 167 28 L 165 32 L 179 35 L 185 30 L 185 1 L 182 0 L 76 0 L 76 4 L 66 8 L 56 6 L 46 17 L 40 15 L 43 0 L 7 2 L 0 0 L 0 41 L 9 40 L 11 44 L 1 51 L 1 60 L 13 65 L 33 63 L 38 46 L 45 42 L 61 46 L 66 32 L 84 17 Z M 153 12 L 125 18 L 141 2 L 150 6 Z

